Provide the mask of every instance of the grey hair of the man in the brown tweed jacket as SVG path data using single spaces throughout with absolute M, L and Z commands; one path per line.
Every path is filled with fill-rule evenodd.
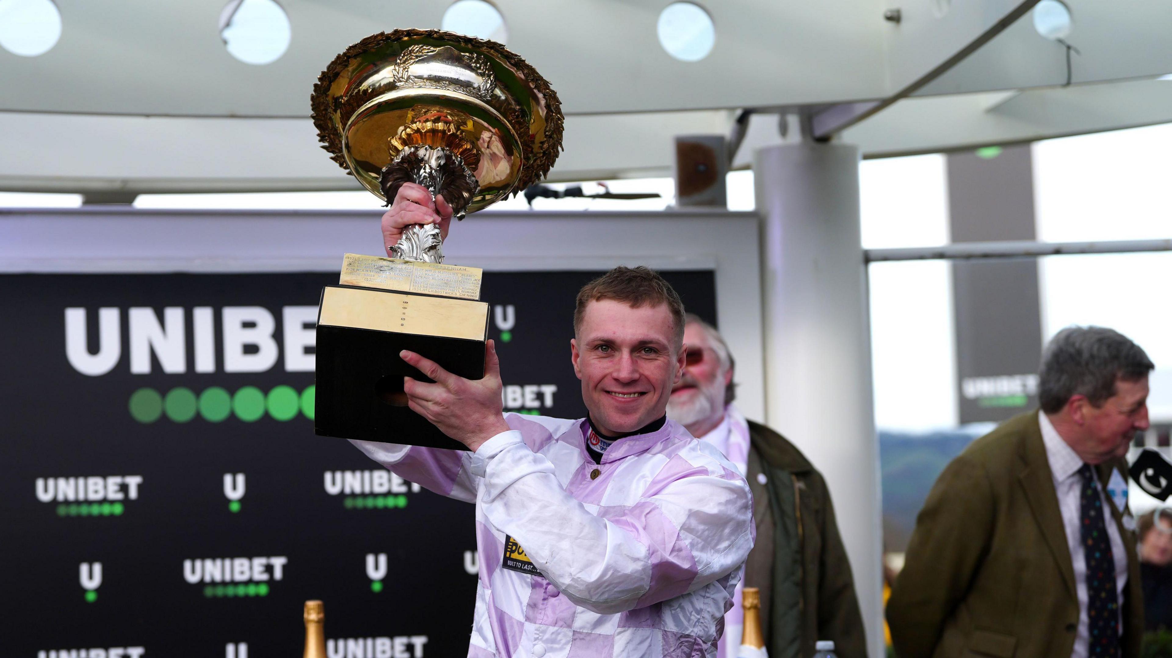
M 1074 396 L 1101 406 L 1116 393 L 1116 379 L 1134 382 L 1156 369 L 1144 350 L 1105 327 L 1067 327 L 1050 338 L 1038 371 L 1038 403 L 1057 413 Z

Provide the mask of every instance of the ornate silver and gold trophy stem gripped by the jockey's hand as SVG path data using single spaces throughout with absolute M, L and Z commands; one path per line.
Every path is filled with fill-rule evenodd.
M 431 192 L 431 199 L 443 194 L 454 217 L 464 218 L 464 210 L 479 190 L 476 176 L 464 160 L 444 146 L 417 144 L 400 151 L 382 170 L 382 191 L 387 204 L 394 203 L 403 183 L 416 183 Z M 438 224 L 413 224 L 390 248 L 391 256 L 420 262 L 443 262 L 443 238 Z

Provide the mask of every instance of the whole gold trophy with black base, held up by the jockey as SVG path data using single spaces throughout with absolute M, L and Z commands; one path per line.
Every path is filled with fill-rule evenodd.
M 455 217 L 525 190 L 561 149 L 557 94 L 504 46 L 424 29 L 379 33 L 322 71 L 313 122 L 334 162 L 388 205 L 403 183 L 442 194 Z M 413 225 L 394 258 L 346 254 L 318 317 L 315 431 L 463 447 L 406 406 L 400 350 L 484 376 L 489 307 L 481 270 L 443 263 L 436 224 Z M 393 434 L 391 434 L 393 432 Z

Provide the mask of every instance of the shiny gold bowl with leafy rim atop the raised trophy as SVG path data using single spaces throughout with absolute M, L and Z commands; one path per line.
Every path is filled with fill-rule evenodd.
M 561 149 L 550 83 L 504 46 L 449 32 L 359 41 L 321 73 L 312 109 L 322 149 L 363 187 L 389 205 L 415 181 L 457 218 L 540 180 Z

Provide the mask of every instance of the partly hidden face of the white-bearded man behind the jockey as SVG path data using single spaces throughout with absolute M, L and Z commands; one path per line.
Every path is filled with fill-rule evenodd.
M 724 391 L 732 370 L 721 363 L 708 334 L 699 324 L 684 327 L 683 344 L 687 345 L 683 376 L 672 388 L 667 413 L 687 427 L 707 426 L 724 416 Z

